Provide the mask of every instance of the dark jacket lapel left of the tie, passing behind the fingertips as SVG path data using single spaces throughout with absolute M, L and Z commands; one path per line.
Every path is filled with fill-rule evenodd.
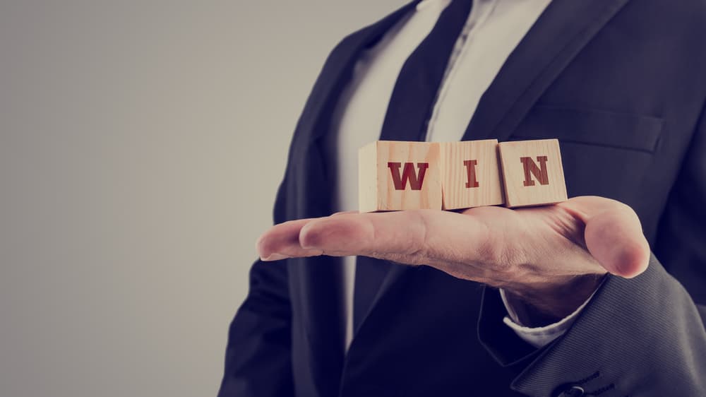
M 321 148 L 329 130 L 330 115 L 361 51 L 378 40 L 397 20 L 419 2 L 412 1 L 367 28 L 346 37 L 331 52 L 299 119 L 290 150 L 287 185 L 287 218 L 330 215 L 333 181 Z M 311 355 L 306 368 L 295 371 L 322 396 L 337 393 L 343 362 L 340 263 L 328 256 L 289 260 L 292 304 L 301 314 Z M 338 332 L 336 331 L 338 330 Z M 308 376 L 307 376 L 308 375 Z

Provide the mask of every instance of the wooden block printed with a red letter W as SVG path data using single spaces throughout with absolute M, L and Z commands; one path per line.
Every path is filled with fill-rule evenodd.
M 358 150 L 359 211 L 441 209 L 438 143 L 376 141 Z

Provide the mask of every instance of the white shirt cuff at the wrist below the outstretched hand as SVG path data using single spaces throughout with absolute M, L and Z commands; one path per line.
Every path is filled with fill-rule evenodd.
M 508 315 L 503 318 L 503 323 L 505 323 L 505 325 L 509 326 L 513 331 L 515 331 L 515 333 L 517 334 L 517 336 L 520 337 L 520 339 L 525 340 L 525 342 L 530 343 L 530 345 L 534 346 L 535 348 L 544 348 L 544 346 L 549 345 L 549 343 L 551 343 L 554 339 L 558 338 L 559 336 L 562 336 L 568 330 L 568 328 L 576 320 L 576 317 L 578 317 L 578 315 L 581 313 L 583 308 L 586 307 L 588 302 L 590 302 L 591 298 L 595 293 L 596 292 L 594 291 L 591 296 L 588 297 L 586 302 L 583 302 L 583 304 L 581 304 L 578 309 L 576 309 L 573 313 L 564 317 L 560 321 L 546 326 L 530 328 L 520 324 L 520 320 L 517 317 L 517 312 L 515 312 L 515 309 L 508 302 L 507 297 L 505 297 L 505 291 L 500 290 L 500 297 L 503 300 L 505 309 L 508 310 Z

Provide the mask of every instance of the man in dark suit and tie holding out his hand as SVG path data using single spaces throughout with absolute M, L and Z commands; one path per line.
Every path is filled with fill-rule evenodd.
M 700 0 L 412 1 L 346 37 L 220 396 L 706 395 L 703 37 Z M 359 141 L 454 134 L 558 138 L 572 198 L 330 216 Z

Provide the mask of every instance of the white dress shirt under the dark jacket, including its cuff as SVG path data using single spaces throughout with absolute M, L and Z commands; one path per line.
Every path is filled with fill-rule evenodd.
M 551 0 L 474 0 L 438 91 L 427 130 L 427 141 L 460 141 L 481 95 L 505 59 L 539 18 Z M 342 93 L 333 115 L 337 155 L 337 210 L 358 208 L 358 148 L 378 140 L 397 75 L 410 54 L 429 35 L 450 0 L 424 0 L 367 50 L 354 67 L 352 81 Z M 439 60 L 444 61 L 443 59 Z M 345 348 L 353 337 L 355 257 L 344 259 Z M 566 319 L 542 328 L 519 323 L 501 294 L 508 316 L 505 324 L 520 338 L 541 347 L 561 336 L 579 308 Z M 471 336 L 469 336 L 471 337 Z

